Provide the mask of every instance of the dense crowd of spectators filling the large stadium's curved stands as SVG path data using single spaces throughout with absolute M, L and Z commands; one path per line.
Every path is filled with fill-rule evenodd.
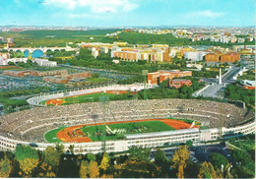
M 221 112 L 222 110 L 222 112 Z M 221 115 L 222 113 L 222 115 Z M 218 128 L 234 127 L 254 116 L 233 104 L 197 99 L 118 100 L 35 107 L 0 117 L 0 132 L 9 138 L 44 142 L 43 134 L 59 126 L 74 126 L 114 121 L 183 118 Z

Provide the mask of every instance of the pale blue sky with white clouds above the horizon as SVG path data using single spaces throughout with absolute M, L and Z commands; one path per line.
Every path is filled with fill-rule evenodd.
M 255 26 L 255 0 L 0 0 L 0 26 Z

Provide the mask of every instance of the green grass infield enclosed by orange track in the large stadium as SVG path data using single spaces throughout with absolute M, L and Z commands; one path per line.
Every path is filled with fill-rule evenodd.
M 106 140 L 118 140 L 123 139 L 124 135 L 127 134 L 139 134 L 139 133 L 151 133 L 160 131 L 170 131 L 175 130 L 172 127 L 160 122 L 160 121 L 142 121 L 133 123 L 120 123 L 120 124 L 110 124 L 107 125 L 112 131 L 123 129 L 123 133 L 111 134 L 106 133 Z M 104 140 L 103 131 L 104 125 L 99 126 L 85 126 L 82 131 L 90 137 L 92 141 L 102 141 Z

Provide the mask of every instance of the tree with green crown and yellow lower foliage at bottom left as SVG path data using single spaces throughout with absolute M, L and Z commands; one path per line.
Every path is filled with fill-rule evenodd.
M 38 164 L 38 153 L 36 149 L 29 146 L 18 146 L 15 149 L 15 158 L 20 163 L 25 176 L 31 176 L 32 169 Z

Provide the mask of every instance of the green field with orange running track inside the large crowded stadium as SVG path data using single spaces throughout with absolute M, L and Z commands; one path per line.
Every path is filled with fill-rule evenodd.
M 46 133 L 44 138 L 49 143 L 87 143 L 91 141 L 123 140 L 124 135 L 129 134 L 190 129 L 191 123 L 193 123 L 193 120 L 165 118 L 108 122 L 105 125 L 103 123 L 85 124 L 72 127 L 59 127 Z M 205 127 L 203 126 L 202 128 L 206 129 Z M 196 121 L 194 128 L 202 129 L 201 123 Z

